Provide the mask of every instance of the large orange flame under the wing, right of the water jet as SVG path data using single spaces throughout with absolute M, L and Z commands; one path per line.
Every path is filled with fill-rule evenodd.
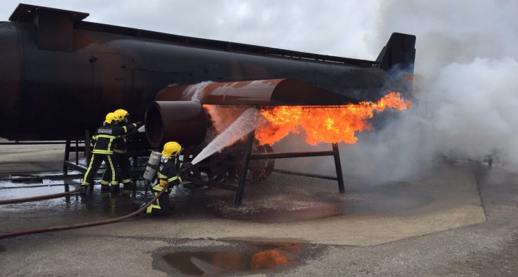
M 371 129 L 366 121 L 373 118 L 374 110 L 385 108 L 409 109 L 410 100 L 401 98 L 401 93 L 389 91 L 378 102 L 360 102 L 358 105 L 337 107 L 279 106 L 265 107 L 260 113 L 267 122 L 256 129 L 256 139 L 261 145 L 273 145 L 290 132 L 305 131 L 306 142 L 316 143 L 356 143 L 355 132 Z

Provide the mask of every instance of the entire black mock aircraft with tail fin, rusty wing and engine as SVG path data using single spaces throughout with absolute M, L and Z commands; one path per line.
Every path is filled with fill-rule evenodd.
M 411 96 L 413 35 L 393 33 L 369 61 L 98 24 L 88 15 L 19 4 L 0 22 L 0 137 L 82 140 L 109 111 L 123 107 L 142 120 L 149 108 L 152 146 L 196 145 L 210 125 L 202 106 L 157 93 L 204 81 L 235 83 L 205 95 L 213 105 L 344 105 L 375 102 L 388 89 Z M 244 86 L 254 80 L 265 84 L 259 94 Z

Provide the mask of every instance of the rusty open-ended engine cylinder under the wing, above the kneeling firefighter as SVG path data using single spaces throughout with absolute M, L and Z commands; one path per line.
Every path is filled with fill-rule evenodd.
M 199 145 L 208 126 L 204 107 L 195 101 L 154 101 L 145 112 L 145 133 L 153 148 L 168 141 Z

